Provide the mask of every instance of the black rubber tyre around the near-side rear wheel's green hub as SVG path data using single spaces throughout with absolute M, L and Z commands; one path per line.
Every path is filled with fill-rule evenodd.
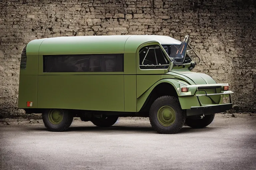
M 53 110 L 58 110 L 63 114 L 63 119 L 62 121 L 55 125 L 50 122 L 48 114 L 52 112 Z M 62 132 L 67 130 L 67 128 L 70 127 L 72 121 L 73 121 L 73 115 L 68 112 L 68 110 L 63 110 L 63 109 L 47 109 L 42 113 L 42 119 L 44 122 L 44 126 L 49 130 L 49 131 L 56 131 L 56 132 Z

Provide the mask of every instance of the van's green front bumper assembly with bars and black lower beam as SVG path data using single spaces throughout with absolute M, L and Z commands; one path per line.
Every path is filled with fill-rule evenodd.
M 181 87 L 183 86 L 188 88 L 188 92 L 181 92 Z M 180 84 L 177 90 L 180 95 L 179 100 L 180 100 L 182 109 L 186 110 L 187 116 L 210 115 L 214 113 L 222 113 L 224 111 L 232 109 L 233 104 L 231 101 L 231 94 L 233 94 L 234 92 L 230 90 L 224 91 L 223 90 L 224 86 L 229 86 L 229 84 L 228 83 L 200 84 L 200 85 L 181 85 Z M 207 91 L 208 89 L 215 89 L 216 93 L 212 91 L 208 93 Z M 217 92 L 216 89 L 219 89 L 219 91 Z M 196 92 L 198 91 L 199 92 L 203 91 L 205 92 L 205 94 L 200 94 L 200 93 L 197 94 Z M 218 102 L 218 99 L 215 98 L 215 100 L 213 100 L 212 98 L 216 95 L 220 97 L 219 102 Z M 187 98 L 185 96 L 190 96 L 190 97 Z M 209 99 L 211 99 L 211 101 L 206 102 L 204 101 L 205 99 L 202 99 L 201 97 L 208 97 Z M 225 100 L 224 102 L 224 98 L 229 101 Z

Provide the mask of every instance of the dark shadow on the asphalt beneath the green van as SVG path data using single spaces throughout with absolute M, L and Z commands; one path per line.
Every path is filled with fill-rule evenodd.
M 221 127 L 206 127 L 206 128 L 190 128 L 187 126 L 183 126 L 178 134 L 183 133 L 198 133 L 198 132 L 209 132 L 219 129 Z M 32 128 L 33 130 L 45 131 L 46 128 Z M 152 127 L 133 127 L 133 126 L 112 126 L 108 128 L 102 127 L 69 127 L 66 132 L 75 132 L 75 131 L 83 131 L 83 132 L 93 132 L 93 133 L 113 133 L 115 131 L 122 131 L 122 132 L 136 132 L 136 133 L 157 133 Z

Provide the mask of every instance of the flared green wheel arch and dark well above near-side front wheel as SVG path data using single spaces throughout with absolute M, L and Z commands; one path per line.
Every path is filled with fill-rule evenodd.
M 137 112 L 148 113 L 150 106 L 160 96 L 179 96 L 178 88 L 180 83 L 185 83 L 178 79 L 161 79 L 152 85 L 147 91 L 137 98 Z

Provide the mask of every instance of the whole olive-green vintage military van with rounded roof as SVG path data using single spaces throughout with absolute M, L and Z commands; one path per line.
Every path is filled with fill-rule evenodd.
M 149 117 L 158 133 L 209 125 L 232 109 L 229 84 L 191 70 L 189 45 L 168 36 L 77 36 L 38 39 L 21 53 L 18 108 L 42 113 L 50 131 L 73 117 L 109 127 L 119 117 Z

